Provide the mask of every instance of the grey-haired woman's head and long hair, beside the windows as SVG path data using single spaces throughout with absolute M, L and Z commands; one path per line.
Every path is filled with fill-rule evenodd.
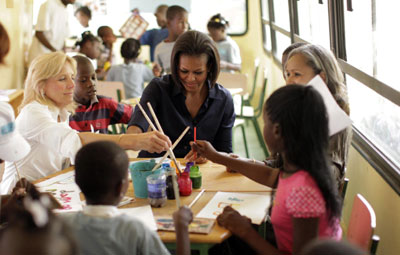
M 293 49 L 288 55 L 284 75 L 286 84 L 307 84 L 314 76 L 320 75 L 340 108 L 350 114 L 343 74 L 336 58 L 329 50 L 314 44 Z M 339 186 L 344 178 L 350 140 L 351 128 L 329 139 L 332 168 Z

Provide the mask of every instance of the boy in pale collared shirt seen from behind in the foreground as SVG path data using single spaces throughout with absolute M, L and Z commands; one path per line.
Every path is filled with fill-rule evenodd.
M 113 142 L 89 143 L 76 154 L 75 182 L 87 206 L 62 216 L 81 254 L 170 254 L 157 232 L 117 209 L 128 189 L 128 166 L 126 152 Z

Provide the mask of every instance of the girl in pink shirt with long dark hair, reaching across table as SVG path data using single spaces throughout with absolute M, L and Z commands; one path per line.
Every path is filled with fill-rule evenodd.
M 271 222 L 278 249 L 232 207 L 225 207 L 218 223 L 257 254 L 299 254 L 317 237 L 340 240 L 341 199 L 329 169 L 328 118 L 321 95 L 311 86 L 282 87 L 267 99 L 263 115 L 264 140 L 273 155 L 281 155 L 280 169 L 232 158 L 206 141 L 197 141 L 193 149 L 199 156 L 276 188 Z

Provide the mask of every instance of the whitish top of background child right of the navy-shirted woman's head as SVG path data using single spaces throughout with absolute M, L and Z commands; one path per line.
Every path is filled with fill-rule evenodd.
M 220 60 L 236 65 L 242 63 L 239 46 L 230 36 L 227 36 L 223 41 L 216 42 L 216 44 Z M 229 72 L 227 69 L 222 69 L 221 71 Z

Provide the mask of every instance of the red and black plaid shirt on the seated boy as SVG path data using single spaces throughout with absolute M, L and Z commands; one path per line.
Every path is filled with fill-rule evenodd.
M 69 125 L 79 132 L 90 132 L 91 126 L 94 131 L 108 133 L 108 125 L 117 123 L 128 124 L 132 117 L 132 107 L 119 104 L 112 98 L 97 96 L 97 100 L 89 106 L 79 105 L 75 114 L 70 116 Z

